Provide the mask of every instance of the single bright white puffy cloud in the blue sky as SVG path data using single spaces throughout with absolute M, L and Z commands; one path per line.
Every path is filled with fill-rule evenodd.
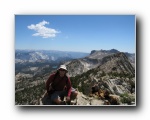
M 49 24 L 49 22 L 43 20 L 42 22 L 36 25 L 31 24 L 27 27 L 28 29 L 36 31 L 36 33 L 33 34 L 33 36 L 41 36 L 42 38 L 54 38 L 56 37 L 57 33 L 60 33 L 59 31 L 56 31 L 53 28 L 45 27 L 46 24 Z

